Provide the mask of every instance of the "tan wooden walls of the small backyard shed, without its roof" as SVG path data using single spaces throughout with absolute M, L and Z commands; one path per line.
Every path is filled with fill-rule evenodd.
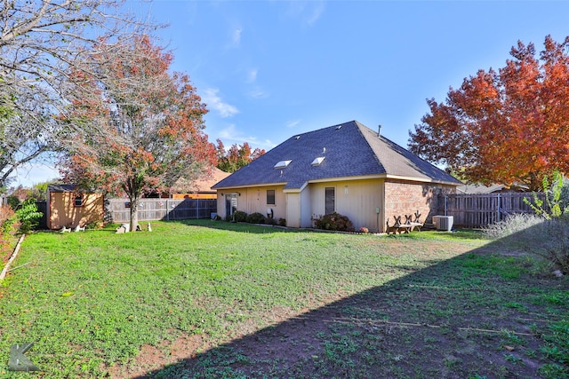
M 63 226 L 75 227 L 78 224 L 102 223 L 104 218 L 103 195 L 87 193 L 84 205 L 75 206 L 75 193 L 50 193 L 48 227 L 60 229 Z

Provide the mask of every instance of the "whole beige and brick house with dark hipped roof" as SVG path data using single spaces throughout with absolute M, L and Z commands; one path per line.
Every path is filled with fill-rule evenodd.
M 310 227 L 334 211 L 356 229 L 384 232 L 393 216 L 433 216 L 439 193 L 461 181 L 398 146 L 379 131 L 344 122 L 287 139 L 212 188 L 218 214 L 260 212 L 287 226 Z

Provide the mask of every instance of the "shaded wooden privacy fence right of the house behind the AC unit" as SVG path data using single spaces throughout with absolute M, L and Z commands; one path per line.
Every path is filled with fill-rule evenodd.
M 545 193 L 538 193 L 538 197 L 545 200 Z M 510 214 L 535 213 L 524 198 L 533 203 L 533 193 L 445 194 L 439 203 L 439 214 L 453 216 L 453 224 L 457 226 L 483 227 Z

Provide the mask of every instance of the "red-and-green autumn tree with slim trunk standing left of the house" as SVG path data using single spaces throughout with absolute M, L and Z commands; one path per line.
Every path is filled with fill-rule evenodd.
M 73 75 L 78 96 L 63 121 L 75 131 L 62 174 L 84 188 L 126 194 L 134 230 L 143 193 L 215 164 L 207 111 L 188 75 L 168 72 L 172 54 L 147 36 L 101 44 L 91 55 L 97 64 Z

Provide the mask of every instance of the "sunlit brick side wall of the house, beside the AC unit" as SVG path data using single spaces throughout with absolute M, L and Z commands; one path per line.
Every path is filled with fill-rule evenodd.
M 405 180 L 386 180 L 385 182 L 385 209 L 383 225 L 389 218 L 389 225 L 393 225 L 394 216 L 411 215 L 417 210 L 421 212 L 421 222 L 431 223 L 433 216 L 440 209 L 438 201 L 440 193 L 454 193 L 454 186 L 443 186 L 429 183 L 417 183 Z

